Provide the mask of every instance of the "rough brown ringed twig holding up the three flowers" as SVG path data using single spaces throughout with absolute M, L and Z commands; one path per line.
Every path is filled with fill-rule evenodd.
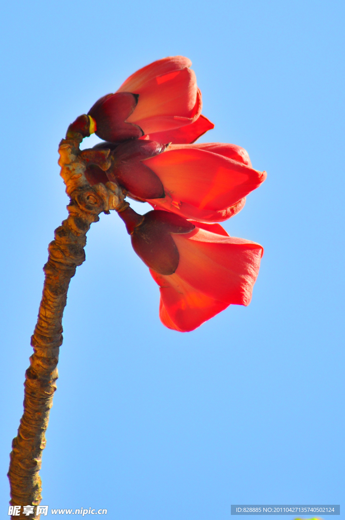
M 34 354 L 26 370 L 24 383 L 24 413 L 18 435 L 12 443 L 8 477 L 12 505 L 38 505 L 41 502 L 42 450 L 45 448 L 45 431 L 48 426 L 52 396 L 58 378 L 57 363 L 62 344 L 62 314 L 67 301 L 67 291 L 76 267 L 85 260 L 86 233 L 99 214 L 109 210 L 121 210 L 128 205 L 125 193 L 114 183 L 90 186 L 85 175 L 88 163 L 97 164 L 102 170 L 110 166 L 109 150 L 79 150 L 83 137 L 89 135 L 89 119 L 82 121 L 87 130 L 70 126 L 67 139 L 59 146 L 61 176 L 70 197 L 67 206 L 69 216 L 55 230 L 50 242 L 48 262 L 44 266 L 45 281 L 38 320 L 31 345 Z M 76 120 L 80 126 L 80 119 Z M 72 128 L 72 129 L 71 129 Z M 74 130 L 74 131 L 73 131 Z M 76 130 L 76 131 L 75 131 Z M 79 132 L 78 132 L 79 130 Z M 34 513 L 12 518 L 39 518 Z

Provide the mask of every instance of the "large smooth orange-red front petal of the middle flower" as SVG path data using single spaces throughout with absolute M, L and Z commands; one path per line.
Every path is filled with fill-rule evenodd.
M 144 163 L 162 180 L 173 203 L 191 204 L 199 210 L 226 210 L 257 188 L 266 178 L 245 164 L 218 153 L 170 145 L 164 153 Z

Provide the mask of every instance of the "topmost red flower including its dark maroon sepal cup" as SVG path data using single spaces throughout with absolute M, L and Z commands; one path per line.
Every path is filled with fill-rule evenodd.
M 129 76 L 115 94 L 103 96 L 90 109 L 96 135 L 111 142 L 141 136 L 160 142 L 193 142 L 213 128 L 204 116 L 200 119 L 201 92 L 191 64 L 188 58 L 173 56 Z

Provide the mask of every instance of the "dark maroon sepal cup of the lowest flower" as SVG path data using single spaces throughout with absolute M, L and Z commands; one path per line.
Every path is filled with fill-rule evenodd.
M 119 215 L 123 218 L 121 213 Z M 189 233 L 194 227 L 194 224 L 174 213 L 150 211 L 144 215 L 141 224 L 132 228 L 132 247 L 150 269 L 161 275 L 172 275 L 178 267 L 180 255 L 170 233 Z

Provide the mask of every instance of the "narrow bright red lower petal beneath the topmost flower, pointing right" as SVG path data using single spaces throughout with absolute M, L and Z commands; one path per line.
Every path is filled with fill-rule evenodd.
M 215 125 L 211 123 L 209 119 L 205 118 L 204 115 L 200 115 L 194 123 L 189 125 L 180 126 L 179 128 L 167 130 L 166 132 L 155 132 L 153 134 L 143 135 L 139 139 L 188 144 L 196 141 L 196 139 L 214 127 Z

